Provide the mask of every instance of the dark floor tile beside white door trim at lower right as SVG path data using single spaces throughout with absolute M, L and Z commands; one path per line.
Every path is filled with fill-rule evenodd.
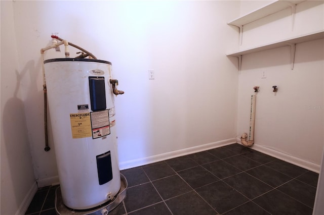
M 294 199 L 313 208 L 315 202 L 316 188 L 296 179 L 281 185 L 277 190 L 286 193 Z

